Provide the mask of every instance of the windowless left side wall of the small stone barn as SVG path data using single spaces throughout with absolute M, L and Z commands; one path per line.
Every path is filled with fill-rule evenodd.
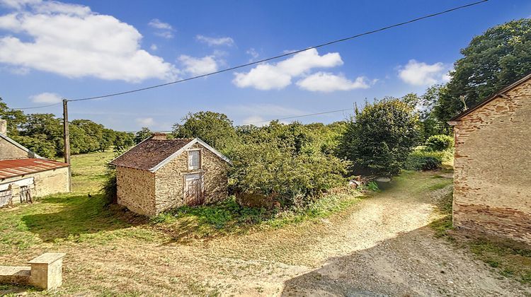
M 137 214 L 153 216 L 155 209 L 155 175 L 147 170 L 116 168 L 118 204 Z

